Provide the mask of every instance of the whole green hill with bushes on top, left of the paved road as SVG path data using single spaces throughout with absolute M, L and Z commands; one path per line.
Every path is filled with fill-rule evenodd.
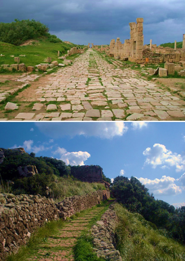
M 25 44 L 27 43 L 27 44 Z M 12 23 L 0 22 L 0 65 L 14 64 L 14 57 L 20 57 L 20 63 L 26 66 L 44 63 L 47 57 L 53 61 L 67 54 L 72 47 L 84 47 L 63 42 L 49 33 L 49 28 L 35 20 L 18 20 Z

